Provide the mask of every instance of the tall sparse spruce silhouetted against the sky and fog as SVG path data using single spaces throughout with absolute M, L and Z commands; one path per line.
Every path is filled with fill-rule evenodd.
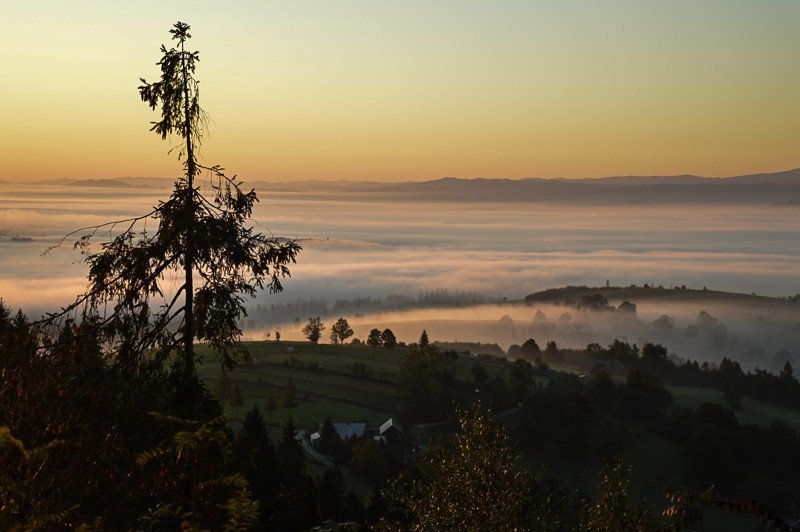
M 196 380 L 195 342 L 209 344 L 232 368 L 244 354 L 238 320 L 243 295 L 282 290 L 300 246 L 256 233 L 248 224 L 258 201 L 254 190 L 198 159 L 208 119 L 200 107 L 196 51 L 186 49 L 189 25 L 170 30 L 175 47 L 161 46 L 161 79 L 142 79 L 139 94 L 161 119 L 151 131 L 177 140 L 170 153 L 183 161 L 183 175 L 169 199 L 143 216 L 73 231 L 75 247 L 89 265 L 88 287 L 62 316 L 97 314 L 101 333 L 118 364 L 135 372 L 147 359 L 160 366 L 177 353 L 176 376 L 189 396 Z M 155 220 L 156 230 L 148 232 Z M 119 229 L 121 228 L 121 231 Z M 108 231 L 99 249 L 93 238 Z M 145 356 L 146 355 L 146 356 Z M 191 397 L 186 397 L 191 399 Z

